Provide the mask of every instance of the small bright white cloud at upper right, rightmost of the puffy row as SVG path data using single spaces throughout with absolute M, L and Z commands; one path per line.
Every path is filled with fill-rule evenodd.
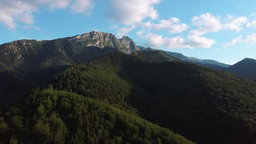
M 242 25 L 246 24 L 247 21 L 248 21 L 247 17 L 241 16 L 241 17 L 231 20 L 228 23 L 225 23 L 223 25 L 223 29 L 240 32 L 243 29 Z

